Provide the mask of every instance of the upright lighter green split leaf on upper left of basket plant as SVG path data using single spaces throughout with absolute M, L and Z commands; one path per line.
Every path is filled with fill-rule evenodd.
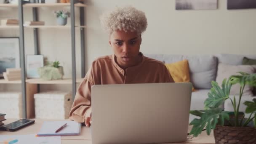
M 231 88 L 231 84 L 227 79 L 222 81 L 222 89 L 219 87 L 218 83 L 215 81 L 211 82 L 212 88 L 208 93 L 208 98 L 205 100 L 205 109 L 209 107 L 219 107 L 223 102 L 229 98 L 229 92 Z

